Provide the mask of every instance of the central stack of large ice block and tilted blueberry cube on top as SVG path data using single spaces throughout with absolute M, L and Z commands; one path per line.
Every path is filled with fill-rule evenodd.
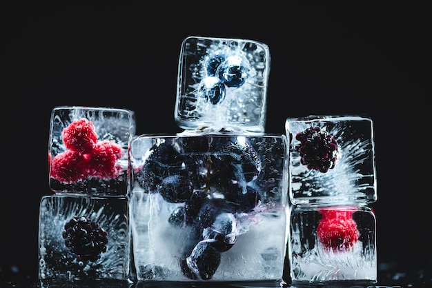
M 175 135 L 130 145 L 139 282 L 282 282 L 288 141 L 264 133 L 270 55 L 257 41 L 181 45 Z

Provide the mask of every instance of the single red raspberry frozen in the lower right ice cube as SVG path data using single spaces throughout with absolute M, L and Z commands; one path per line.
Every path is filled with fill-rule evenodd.
M 317 227 L 317 237 L 328 250 L 346 251 L 351 249 L 360 237 L 353 212 L 322 210 L 322 219 Z

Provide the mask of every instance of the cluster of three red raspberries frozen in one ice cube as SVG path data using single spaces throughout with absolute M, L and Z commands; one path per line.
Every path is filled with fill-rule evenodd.
M 84 181 L 88 177 L 115 178 L 123 172 L 117 160 L 123 155 L 120 145 L 97 141 L 95 125 L 87 119 L 73 121 L 61 132 L 68 150 L 50 162 L 50 176 L 62 183 Z

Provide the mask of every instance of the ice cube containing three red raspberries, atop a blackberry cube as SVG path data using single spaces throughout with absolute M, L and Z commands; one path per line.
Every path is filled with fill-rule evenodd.
M 82 128 L 83 132 L 78 131 L 74 135 L 72 131 L 66 136 L 62 135 L 69 125 L 81 125 L 79 121 L 87 121 L 87 126 Z M 128 143 L 133 135 L 135 114 L 130 110 L 109 107 L 55 107 L 51 114 L 48 147 L 50 189 L 57 193 L 95 196 L 126 195 Z M 67 147 L 65 141 L 69 146 L 72 145 L 72 149 Z M 88 147 L 88 142 L 95 144 L 94 150 Z M 90 164 L 86 166 L 84 163 Z M 91 171 L 89 167 L 92 168 Z M 63 174 L 59 173 L 59 170 Z

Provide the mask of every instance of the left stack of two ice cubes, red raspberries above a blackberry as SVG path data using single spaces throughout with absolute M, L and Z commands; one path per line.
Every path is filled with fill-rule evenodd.
M 133 135 L 130 110 L 52 110 L 48 160 L 53 194 L 41 198 L 39 209 L 42 282 L 128 280 L 128 145 Z

